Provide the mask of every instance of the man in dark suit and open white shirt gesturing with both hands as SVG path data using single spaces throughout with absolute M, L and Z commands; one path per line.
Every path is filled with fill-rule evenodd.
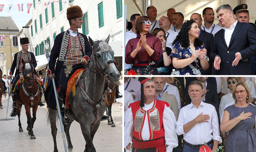
M 256 54 L 256 32 L 253 25 L 235 20 L 229 4 L 221 5 L 216 12 L 223 27 L 215 34 L 210 52 L 217 74 L 252 74 L 250 57 Z

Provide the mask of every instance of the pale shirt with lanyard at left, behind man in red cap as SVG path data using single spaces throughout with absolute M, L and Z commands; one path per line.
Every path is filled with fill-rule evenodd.
M 130 83 L 129 83 L 130 81 Z M 128 85 L 129 84 L 129 85 Z M 128 87 L 127 87 L 128 85 Z M 134 92 L 131 92 L 132 95 L 135 95 L 134 102 L 140 101 L 140 82 L 137 80 L 134 80 L 133 78 L 129 78 L 127 82 L 125 82 L 125 87 L 124 89 L 126 91 L 133 90 Z

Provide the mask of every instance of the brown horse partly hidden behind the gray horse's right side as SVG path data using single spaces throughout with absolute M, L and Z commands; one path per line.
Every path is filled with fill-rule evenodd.
M 109 82 L 109 86 L 108 86 L 108 90 L 107 90 L 107 98 L 105 98 L 105 103 L 106 103 L 106 107 L 107 107 L 107 114 L 109 115 L 109 120 L 108 120 L 108 125 L 111 125 L 111 127 L 116 127 L 116 125 L 114 124 L 113 118 L 112 118 L 112 104 L 116 99 L 116 91 L 117 91 L 117 84 L 115 83 L 111 83 L 111 81 Z

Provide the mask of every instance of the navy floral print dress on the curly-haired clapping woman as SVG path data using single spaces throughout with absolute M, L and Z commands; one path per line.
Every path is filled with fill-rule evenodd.
M 195 47 L 195 51 L 204 49 L 204 44 L 201 46 Z M 181 42 L 178 41 L 174 44 L 173 50 L 171 52 L 171 56 L 176 57 L 178 59 L 186 59 L 190 58 L 192 56 L 192 49 L 190 47 L 183 48 L 181 46 Z M 205 56 L 206 61 L 209 62 L 209 57 Z M 200 65 L 200 59 L 199 56 L 196 58 L 195 61 L 193 61 L 191 64 L 189 64 L 186 67 L 183 68 L 176 68 L 175 69 L 175 75 L 203 75 L 203 70 Z

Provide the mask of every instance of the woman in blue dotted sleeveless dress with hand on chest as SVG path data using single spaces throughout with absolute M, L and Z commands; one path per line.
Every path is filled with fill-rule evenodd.
M 248 85 L 238 82 L 234 87 L 235 104 L 224 110 L 220 129 L 228 131 L 225 152 L 256 152 L 256 106 L 249 103 Z

